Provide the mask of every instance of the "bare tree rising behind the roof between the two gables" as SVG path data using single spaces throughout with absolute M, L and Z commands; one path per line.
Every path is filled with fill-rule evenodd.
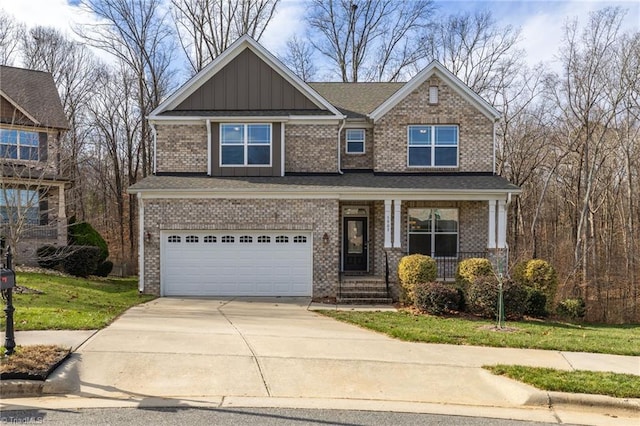
M 309 40 L 344 82 L 394 81 L 420 58 L 431 0 L 313 0 Z

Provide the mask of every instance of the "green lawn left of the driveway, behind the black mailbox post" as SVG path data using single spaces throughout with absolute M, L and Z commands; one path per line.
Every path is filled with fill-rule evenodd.
M 136 278 L 84 279 L 18 272 L 20 286 L 43 294 L 14 294 L 14 327 L 26 330 L 90 330 L 111 323 L 154 296 L 139 295 Z M 5 316 L 0 326 L 5 329 Z

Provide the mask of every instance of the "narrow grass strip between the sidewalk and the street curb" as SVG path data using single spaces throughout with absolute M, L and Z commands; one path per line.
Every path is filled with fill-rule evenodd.
M 522 365 L 495 365 L 483 368 L 493 374 L 506 376 L 547 391 L 640 398 L 640 376 L 632 374 L 564 371 Z

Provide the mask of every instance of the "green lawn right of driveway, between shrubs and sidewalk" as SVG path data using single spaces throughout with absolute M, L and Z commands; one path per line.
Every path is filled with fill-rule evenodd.
M 640 355 L 640 326 L 510 321 L 513 332 L 488 329 L 491 321 L 410 312 L 322 311 L 340 321 L 410 342 Z M 488 326 L 484 327 L 483 326 Z

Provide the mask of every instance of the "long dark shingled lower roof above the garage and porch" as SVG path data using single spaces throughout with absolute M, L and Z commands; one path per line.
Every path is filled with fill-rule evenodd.
M 483 200 L 521 192 L 492 174 L 305 175 L 284 177 L 149 176 L 129 188 L 150 198 L 251 197 Z

